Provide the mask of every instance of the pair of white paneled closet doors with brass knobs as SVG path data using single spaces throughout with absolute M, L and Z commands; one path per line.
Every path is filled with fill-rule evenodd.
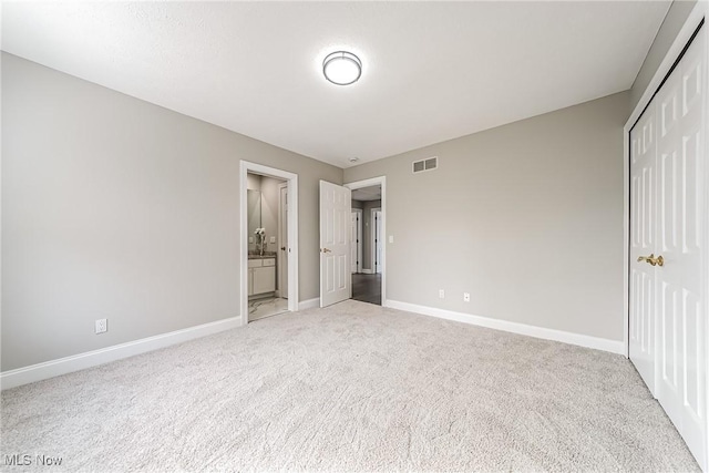
M 706 470 L 705 30 L 630 134 L 629 349 Z M 648 261 L 649 256 L 655 259 Z

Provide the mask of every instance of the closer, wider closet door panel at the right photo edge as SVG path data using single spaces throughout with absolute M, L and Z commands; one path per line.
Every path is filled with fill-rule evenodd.
M 705 31 L 702 29 L 702 31 Z M 706 33 L 705 33 L 706 34 Z M 655 97 L 657 103 L 657 400 L 689 450 L 707 454 L 705 302 L 705 34 Z M 702 222 L 703 220 L 703 222 Z M 705 459 L 706 461 L 706 459 Z M 707 467 L 706 463 L 700 464 Z

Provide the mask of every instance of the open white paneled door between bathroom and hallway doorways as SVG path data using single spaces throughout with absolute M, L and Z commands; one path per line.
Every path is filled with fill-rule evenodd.
M 351 192 L 320 181 L 320 307 L 350 298 Z

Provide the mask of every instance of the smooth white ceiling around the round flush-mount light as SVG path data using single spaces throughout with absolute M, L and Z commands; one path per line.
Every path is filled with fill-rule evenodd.
M 349 167 L 629 89 L 669 4 L 4 1 L 2 50 Z

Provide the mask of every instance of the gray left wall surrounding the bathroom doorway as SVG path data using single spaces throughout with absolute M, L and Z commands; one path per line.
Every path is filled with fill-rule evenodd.
M 342 169 L 7 53 L 2 138 L 3 371 L 238 316 L 239 160 L 299 175 L 318 297 L 318 182 Z

